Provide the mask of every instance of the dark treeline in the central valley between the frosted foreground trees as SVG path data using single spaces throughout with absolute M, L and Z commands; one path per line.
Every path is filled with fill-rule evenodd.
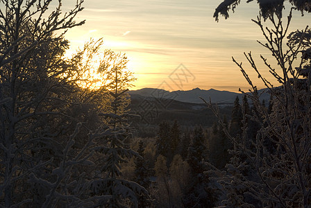
M 146 153 L 149 155 L 146 157 L 149 171 L 144 173 L 149 173 L 149 177 L 156 176 L 158 194 L 154 197 L 158 206 L 215 206 L 219 190 L 216 184 L 210 184 L 208 180 L 205 171 L 210 170 L 210 167 L 207 162 L 219 169 L 224 169 L 230 162 L 229 152 L 233 150 L 234 145 L 225 131 L 234 137 L 242 134 L 243 111 L 246 117 L 255 114 L 255 107 L 249 106 L 246 96 L 241 103 L 239 98 L 236 98 L 230 121 L 224 115 L 226 130 L 218 122 L 210 128 L 198 125 L 183 129 L 178 121 L 167 120 L 162 121 L 156 128 L 156 137 L 140 140 L 140 150 L 144 142 Z M 259 130 L 259 123 L 247 119 L 247 124 L 250 139 L 248 146 L 251 146 L 251 141 L 255 141 L 255 135 Z M 178 176 L 180 174 L 182 177 Z

